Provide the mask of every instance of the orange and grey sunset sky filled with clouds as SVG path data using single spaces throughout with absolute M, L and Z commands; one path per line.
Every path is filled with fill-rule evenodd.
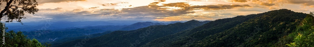
M 314 0 L 37 0 L 22 22 L 108 20 L 216 20 L 289 9 L 314 11 Z M 4 6 L 1 6 L 4 7 Z

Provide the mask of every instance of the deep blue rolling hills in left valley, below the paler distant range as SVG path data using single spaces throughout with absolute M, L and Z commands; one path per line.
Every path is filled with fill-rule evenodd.
M 172 23 L 169 23 L 172 24 Z M 135 30 L 139 28 L 145 28 L 151 25 L 166 25 L 164 23 L 152 23 L 152 22 L 138 22 L 131 25 L 105 25 L 105 26 L 84 26 L 81 28 L 71 27 L 63 29 L 54 29 L 54 30 L 37 30 L 31 32 L 23 32 L 29 38 L 35 38 L 40 42 L 44 41 L 55 41 L 62 38 L 67 38 L 64 41 L 75 40 L 78 36 L 86 36 L 95 33 L 101 33 L 105 31 L 116 31 L 116 30 Z M 110 33 L 110 32 L 107 32 Z M 101 35 L 98 35 L 101 36 Z M 96 36 L 95 36 L 96 37 Z

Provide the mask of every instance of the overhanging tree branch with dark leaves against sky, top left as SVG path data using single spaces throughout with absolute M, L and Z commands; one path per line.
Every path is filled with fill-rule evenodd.
M 3 10 L 0 9 L 0 14 L 8 15 L 8 21 L 6 22 L 12 22 L 15 19 L 22 24 L 21 19 L 26 19 L 26 17 L 23 17 L 24 12 L 35 14 L 39 10 L 36 8 L 38 6 L 36 0 L 0 0 L 0 2 L 0 6 L 5 6 Z

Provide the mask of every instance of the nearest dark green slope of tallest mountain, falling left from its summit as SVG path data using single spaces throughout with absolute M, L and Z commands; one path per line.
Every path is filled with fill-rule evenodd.
M 224 47 L 272 47 L 280 37 L 295 30 L 295 25 L 306 17 L 287 9 L 268 11 L 263 16 L 251 19 L 234 28 L 207 36 L 189 46 Z

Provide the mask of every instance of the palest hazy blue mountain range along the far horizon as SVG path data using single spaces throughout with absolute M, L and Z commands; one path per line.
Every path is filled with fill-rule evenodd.
M 110 21 L 36 21 L 28 23 L 8 23 L 6 27 L 9 30 L 14 31 L 36 31 L 36 30 L 53 30 L 53 29 L 62 29 L 62 28 L 82 28 L 85 26 L 105 26 L 105 25 L 131 25 L 137 22 L 154 22 L 154 23 L 166 23 L 171 24 L 171 22 L 186 22 L 186 21 L 168 21 L 168 22 L 159 22 L 159 21 L 119 21 L 119 20 L 110 20 Z M 164 25 L 166 25 L 164 24 Z M 127 28 L 128 29 L 128 28 Z M 128 29 L 130 30 L 130 29 Z M 134 29 L 132 29 L 134 30 Z

